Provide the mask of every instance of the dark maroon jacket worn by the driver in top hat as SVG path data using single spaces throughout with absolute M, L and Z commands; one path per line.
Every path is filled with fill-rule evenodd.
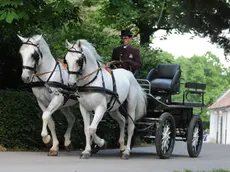
M 120 46 L 113 49 L 112 61 L 113 60 L 121 62 L 120 64 L 115 65 L 117 68 L 124 68 L 133 73 L 142 66 L 139 49 L 130 45 L 126 48 Z

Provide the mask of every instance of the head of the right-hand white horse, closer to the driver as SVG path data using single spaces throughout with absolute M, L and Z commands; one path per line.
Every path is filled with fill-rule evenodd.
M 81 41 L 76 44 L 71 44 L 66 40 L 66 48 L 68 52 L 65 56 L 64 62 L 67 64 L 69 73 L 69 85 L 76 86 L 77 79 L 82 75 L 86 65 L 86 57 L 83 53 Z

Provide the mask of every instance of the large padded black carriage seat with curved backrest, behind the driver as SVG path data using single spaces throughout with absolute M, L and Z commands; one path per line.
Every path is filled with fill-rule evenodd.
M 159 64 L 152 69 L 146 79 L 151 83 L 151 93 L 166 92 L 175 94 L 180 90 L 181 70 L 178 64 Z

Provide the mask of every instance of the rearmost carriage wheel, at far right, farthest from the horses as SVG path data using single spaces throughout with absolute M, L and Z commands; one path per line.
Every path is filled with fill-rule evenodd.
M 203 123 L 200 116 L 193 116 L 188 127 L 187 149 L 190 157 L 200 154 L 203 144 Z

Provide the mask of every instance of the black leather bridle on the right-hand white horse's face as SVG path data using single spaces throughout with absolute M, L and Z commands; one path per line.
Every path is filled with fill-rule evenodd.
M 77 61 L 78 66 L 80 66 L 80 69 L 79 69 L 78 71 L 70 71 L 70 70 L 69 70 L 69 67 L 68 67 L 68 64 L 67 64 L 67 62 L 66 62 L 66 56 L 64 57 L 64 61 L 63 61 L 63 62 L 67 65 L 67 70 L 68 70 L 69 75 L 77 75 L 77 76 L 80 76 L 80 75 L 82 75 L 83 65 L 84 65 L 84 63 L 86 64 L 86 57 L 85 57 L 85 55 L 84 55 L 84 53 L 83 53 L 83 50 L 82 50 L 82 49 L 81 49 L 81 51 L 76 50 L 76 49 L 74 48 L 74 45 L 75 45 L 75 44 L 73 44 L 73 46 L 72 46 L 70 49 L 68 49 L 67 51 L 68 51 L 68 52 L 71 52 L 71 53 L 81 54 L 81 57 L 80 57 L 79 60 Z

